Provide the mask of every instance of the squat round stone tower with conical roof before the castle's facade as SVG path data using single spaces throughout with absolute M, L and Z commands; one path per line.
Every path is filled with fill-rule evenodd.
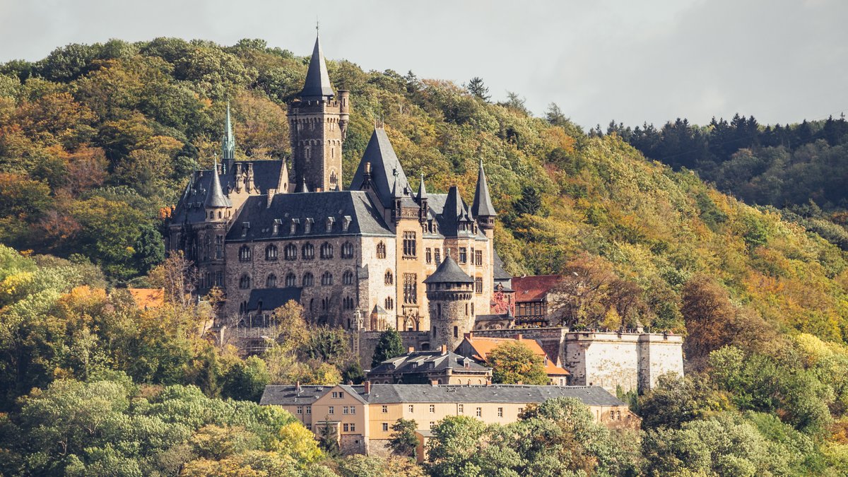
M 430 306 L 430 346 L 447 345 L 454 351 L 474 328 L 474 278 L 463 272 L 448 254 L 436 272 L 424 280 Z

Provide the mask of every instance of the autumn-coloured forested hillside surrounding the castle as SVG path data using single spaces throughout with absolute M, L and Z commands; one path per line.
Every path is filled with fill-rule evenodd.
M 70 45 L 35 63 L 0 65 L 0 242 L 27 255 L 0 250 L 0 388 L 3 410 L 11 412 L 0 418 L 0 442 L 4 455 L 17 459 L 5 469 L 97 474 L 97 465 L 120 454 L 142 463 L 138 468 L 144 472 L 174 474 L 185 462 L 169 467 L 168 458 L 181 446 L 193 449 L 186 458 L 197 461 L 195 467 L 278 458 L 282 447 L 265 435 L 265 421 L 247 426 L 232 410 L 192 420 L 156 449 L 117 448 L 103 437 L 85 450 L 85 439 L 75 436 L 75 452 L 85 456 L 75 457 L 80 463 L 61 450 L 25 456 L 53 429 L 45 424 L 46 407 L 66 408 L 56 401 L 75 402 L 74 396 L 99 393 L 98 402 L 116 413 L 114 422 L 181 422 L 197 404 L 172 404 L 170 414 L 155 406 L 197 401 L 194 388 L 155 386 L 197 385 L 214 399 L 255 399 L 237 390 L 243 383 L 260 387 L 294 373 L 303 373 L 297 379 L 304 382 L 355 375 L 343 368 L 342 351 L 321 356 L 308 344 L 296 353 L 252 361 L 216 350 L 192 337 L 192 326 L 209 311 L 180 304 L 179 293 L 169 295 L 173 308 L 141 312 L 121 301 L 120 293 L 103 291 L 126 283 L 173 284 L 165 272 L 174 264 L 159 265 L 161 233 L 191 171 L 211 166 L 226 101 L 232 104 L 239 157 L 285 157 L 285 101 L 302 86 L 307 61 L 259 40 L 220 47 L 159 38 Z M 568 459 L 578 457 L 563 443 L 581 441 L 579 429 L 557 428 L 574 434 L 557 435 L 561 447 L 551 452 L 561 452 L 559 460 L 545 465 L 567 461 L 573 463 L 569 469 L 589 474 L 848 470 L 848 272 L 838 240 L 785 220 L 780 210 L 721 194 L 688 170 L 645 160 L 623 134 L 584 134 L 555 106 L 546 118 L 535 118 L 516 94 L 504 103 L 489 102 L 481 81 L 466 88 L 411 72 L 366 72 L 343 60 L 328 66 L 333 85 L 349 89 L 353 102 L 345 181 L 378 118 L 407 175 L 422 173 L 428 190 L 446 192 L 456 182 L 470 202 L 482 159 L 499 210 L 495 244 L 510 272 L 566 272 L 570 284 L 587 290 L 570 299 L 568 324 L 612 327 L 623 320 L 687 334 L 693 378 L 669 380 L 633 401 L 646 434 L 629 437 L 628 444 L 588 446 L 581 451 L 585 460 L 574 463 Z M 812 143 L 791 154 L 841 147 Z M 722 166 L 744 160 L 744 154 L 737 152 Z M 762 188 L 773 194 L 787 190 Z M 822 198 L 828 207 L 844 205 L 842 196 L 830 192 L 793 202 Z M 332 330 L 304 333 L 339 341 Z M 313 361 L 306 364 L 307 358 Z M 321 364 L 325 374 L 306 376 Z M 104 379 L 124 387 L 96 384 Z M 42 390 L 31 392 L 32 387 Z M 30 396 L 15 401 L 25 395 Z M 140 398 L 144 402 L 127 404 Z M 71 422 L 69 429 L 83 421 Z M 207 425 L 231 431 L 235 426 L 253 436 L 215 437 L 249 442 L 240 452 L 216 455 L 204 443 L 215 441 L 209 433 L 219 431 Z M 477 439 L 485 446 L 502 431 L 468 432 L 465 442 Z M 114 433 L 127 442 L 137 439 L 130 428 Z M 639 439 L 641 452 L 634 451 Z M 466 465 L 463 458 L 468 465 L 491 465 L 471 461 L 494 455 L 442 452 L 458 459 L 457 465 Z M 609 452 L 628 456 L 622 458 L 629 463 L 613 463 Z M 302 468 L 324 457 L 279 458 Z M 523 463 L 516 457 L 499 469 L 542 474 L 527 463 L 542 462 L 541 457 L 521 458 Z M 51 468 L 51 459 L 62 464 Z M 428 471 L 438 475 L 439 469 L 448 468 Z

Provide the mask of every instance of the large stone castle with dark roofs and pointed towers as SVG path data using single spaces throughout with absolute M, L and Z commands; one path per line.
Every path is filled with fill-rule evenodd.
M 297 300 L 311 323 L 427 333 L 433 348 L 453 349 L 476 315 L 490 313 L 495 275 L 509 277 L 493 246 L 497 214 L 483 163 L 470 207 L 455 185 L 431 194 L 422 176 L 413 189 L 375 126 L 345 190 L 350 108 L 316 38 L 304 88 L 288 104 L 291 168 L 236 160 L 228 105 L 220 164 L 192 176 L 168 250 L 194 262 L 198 295 L 225 293 L 221 316 L 231 323 L 266 326 L 277 306 Z

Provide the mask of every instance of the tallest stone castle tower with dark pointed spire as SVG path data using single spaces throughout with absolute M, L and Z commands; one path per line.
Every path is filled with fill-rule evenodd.
M 333 93 L 321 39 L 315 37 L 299 98 L 288 104 L 294 183 L 308 190 L 342 189 L 342 143 L 350 117 L 349 93 Z

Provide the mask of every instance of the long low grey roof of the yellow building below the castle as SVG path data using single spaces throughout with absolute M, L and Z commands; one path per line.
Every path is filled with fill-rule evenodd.
M 530 386 L 521 384 L 439 385 L 371 384 L 368 402 L 544 402 L 576 397 L 587 406 L 626 406 L 600 386 Z

